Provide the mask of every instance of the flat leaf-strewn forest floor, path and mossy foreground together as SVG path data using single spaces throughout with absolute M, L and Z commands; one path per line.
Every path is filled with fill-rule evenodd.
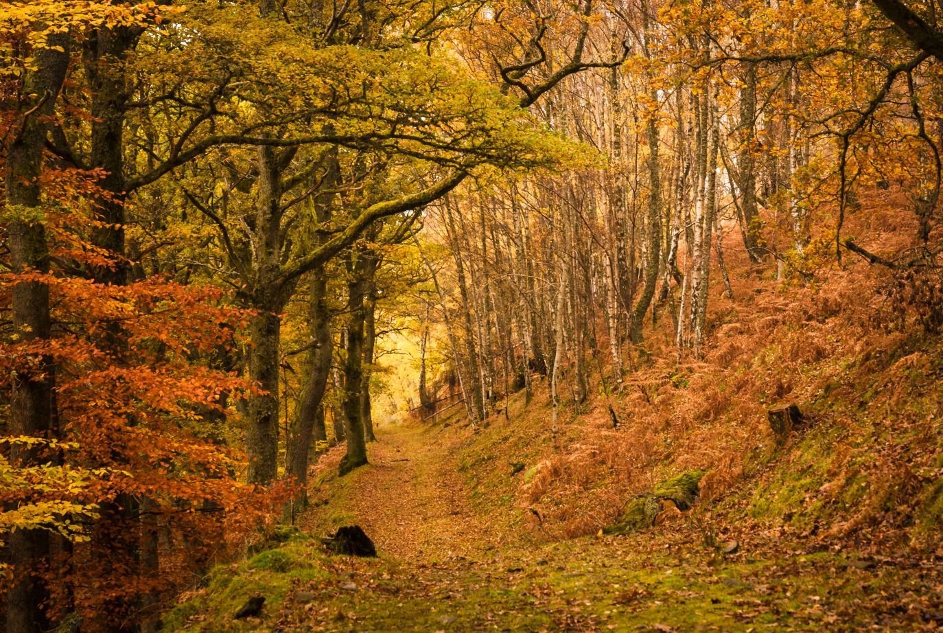
M 541 538 L 469 485 L 467 428 L 396 425 L 370 466 L 312 487 L 302 534 L 211 578 L 166 623 L 206 631 L 937 630 L 941 572 L 757 537 L 723 555 L 691 518 L 629 537 Z M 535 520 L 536 521 L 536 520 Z M 361 525 L 379 558 L 317 537 Z M 232 620 L 249 595 L 261 619 Z

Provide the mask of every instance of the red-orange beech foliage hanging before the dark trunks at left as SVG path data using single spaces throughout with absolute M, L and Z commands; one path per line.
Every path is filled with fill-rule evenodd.
M 112 286 L 82 275 L 114 263 L 85 239 L 91 222 L 81 209 L 97 193 L 96 178 L 76 171 L 49 177 L 42 221 L 51 272 L 0 275 L 0 306 L 10 305 L 16 284 L 49 287 L 55 332 L 51 341 L 22 341 L 16 333 L 0 340 L 0 407 L 12 375 L 35 368 L 41 356 L 51 359 L 55 439 L 66 443 L 47 448 L 44 458 L 82 472 L 85 485 L 4 490 L 0 503 L 97 508 L 98 519 L 51 518 L 47 528 L 78 523 L 74 534 L 86 538 L 41 572 L 53 614 L 74 611 L 87 626 L 109 629 L 126 624 L 127 609 L 141 608 L 145 596 L 156 608 L 162 594 L 192 583 L 228 544 L 270 520 L 287 491 L 241 484 L 242 456 L 225 444 L 224 416 L 234 413 L 228 404 L 249 385 L 213 359 L 234 351 L 246 315 L 208 286 L 160 277 Z

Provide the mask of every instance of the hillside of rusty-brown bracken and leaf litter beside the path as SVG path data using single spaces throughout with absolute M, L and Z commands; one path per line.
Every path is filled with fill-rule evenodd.
M 896 222 L 871 231 L 872 248 L 900 247 Z M 722 500 L 731 520 L 819 541 L 935 547 L 938 284 L 859 261 L 781 282 L 742 256 L 729 261 L 734 299 L 716 289 L 703 358 L 679 358 L 662 319 L 644 347 L 624 351 L 634 371 L 620 390 L 565 404 L 555 436 L 545 379 L 535 376 L 529 405 L 511 396 L 511 421 L 486 421 L 460 456 L 476 490 L 503 491 L 483 503 L 513 493 L 535 534 L 572 538 L 611 525 L 627 500 L 666 477 L 700 469 L 702 503 Z M 608 374 L 595 380 L 616 384 Z M 767 411 L 788 403 L 806 424 L 780 445 Z M 520 475 L 505 469 L 507 456 L 523 464 Z

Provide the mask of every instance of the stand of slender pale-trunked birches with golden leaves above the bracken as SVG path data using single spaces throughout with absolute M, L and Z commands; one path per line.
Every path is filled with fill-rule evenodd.
M 802 3 L 609 7 L 582 42 L 624 47 L 625 62 L 567 77 L 536 108 L 604 164 L 437 206 L 438 241 L 455 260 L 446 318 L 475 417 L 498 408 L 490 386 L 502 374 L 524 375 L 528 389 L 531 374 L 547 375 L 554 420 L 561 398 L 583 402 L 589 371 L 619 389 L 648 347 L 647 324 L 664 317 L 678 353 L 703 356 L 711 289 L 733 292 L 725 257 L 808 278 L 840 258 L 842 219 L 863 187 L 896 179 L 918 218 L 937 214 L 937 34 L 919 12 L 874 4 L 880 12 L 839 4 L 827 15 Z M 494 57 L 514 59 L 496 72 L 526 95 L 517 69 L 581 36 L 557 42 L 550 22 L 528 31 L 511 20 L 479 33 Z M 919 166 L 909 151 L 925 157 Z M 731 234 L 740 239 L 721 240 Z

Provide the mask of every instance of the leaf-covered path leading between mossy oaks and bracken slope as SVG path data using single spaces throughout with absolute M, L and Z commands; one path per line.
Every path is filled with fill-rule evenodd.
M 331 558 L 332 578 L 301 591 L 317 599 L 299 605 L 298 592 L 290 596 L 279 630 L 559 629 L 540 596 L 520 585 L 527 552 L 503 529 L 507 517 L 474 508 L 453 453 L 457 436 L 391 425 L 377 437 L 370 465 L 335 479 L 329 511 L 315 510 L 302 527 L 323 536 L 360 525 L 380 558 Z

